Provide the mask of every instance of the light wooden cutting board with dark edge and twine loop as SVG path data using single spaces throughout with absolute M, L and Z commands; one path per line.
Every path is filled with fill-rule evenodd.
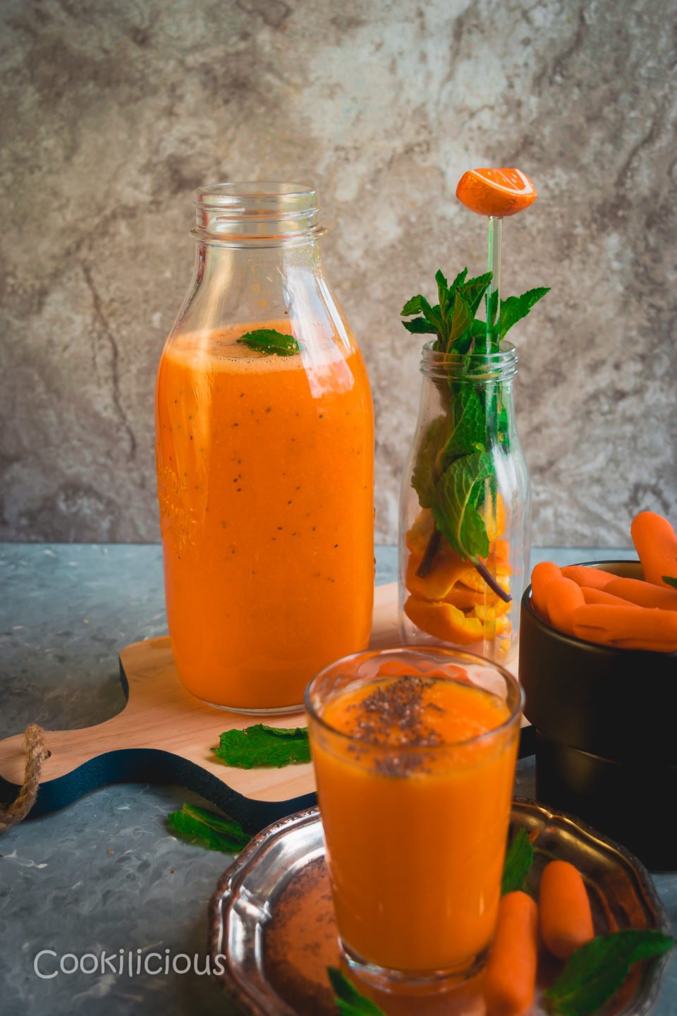
M 370 645 L 399 642 L 397 583 L 377 586 Z M 120 653 L 127 704 L 96 726 L 48 731 L 52 752 L 44 763 L 31 815 L 63 808 L 105 783 L 179 783 L 202 795 L 250 829 L 315 803 L 309 765 L 234 769 L 212 747 L 222 731 L 260 722 L 194 698 L 181 684 L 168 637 L 134 642 Z M 304 725 L 302 712 L 264 718 L 274 726 Z M 23 735 L 0 741 L 0 801 L 13 801 L 23 780 Z

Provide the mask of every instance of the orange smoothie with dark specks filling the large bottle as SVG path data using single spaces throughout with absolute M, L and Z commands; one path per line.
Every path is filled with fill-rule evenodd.
M 178 334 L 156 384 L 170 635 L 194 695 L 242 710 L 297 705 L 312 676 L 367 644 L 374 424 L 359 351 L 319 333 L 293 356 L 256 328 Z M 308 335 L 308 332 L 307 332 Z

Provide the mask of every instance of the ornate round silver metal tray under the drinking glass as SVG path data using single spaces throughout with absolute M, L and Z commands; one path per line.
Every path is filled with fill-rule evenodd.
M 537 852 L 530 882 L 538 885 L 549 856 L 570 861 L 584 875 L 597 934 L 623 928 L 668 931 L 669 923 L 644 866 L 622 846 L 578 819 L 523 798 L 513 802 L 512 826 L 532 834 Z M 534 838 L 535 837 L 535 838 Z M 317 808 L 264 829 L 221 876 L 209 905 L 212 961 L 225 956 L 219 980 L 244 1012 L 256 1016 L 336 1016 L 328 965 L 340 965 L 322 824 Z M 666 957 L 638 964 L 605 1016 L 644 1016 L 658 994 Z M 556 975 L 545 969 L 540 990 Z M 483 1016 L 472 981 L 462 990 L 407 1000 L 371 994 L 388 1016 Z

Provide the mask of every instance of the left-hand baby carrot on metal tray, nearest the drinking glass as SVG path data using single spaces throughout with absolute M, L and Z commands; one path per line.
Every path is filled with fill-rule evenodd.
M 534 1001 L 538 906 L 526 892 L 505 893 L 484 980 L 488 1016 L 520 1016 Z

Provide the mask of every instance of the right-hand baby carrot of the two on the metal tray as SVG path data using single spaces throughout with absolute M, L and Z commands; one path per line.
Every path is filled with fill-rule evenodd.
M 557 959 L 595 937 L 585 883 L 568 861 L 551 861 L 543 869 L 539 890 L 541 937 Z

